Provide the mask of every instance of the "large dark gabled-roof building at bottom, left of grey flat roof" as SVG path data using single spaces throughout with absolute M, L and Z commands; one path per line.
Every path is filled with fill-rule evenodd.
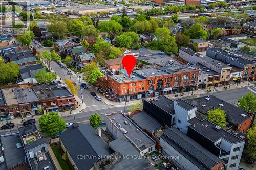
M 59 138 L 76 170 L 94 169 L 94 163 L 113 153 L 90 124 L 74 123 Z

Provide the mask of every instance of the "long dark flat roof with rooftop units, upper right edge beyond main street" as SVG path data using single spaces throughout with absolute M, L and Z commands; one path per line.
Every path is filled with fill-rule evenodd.
M 226 56 L 229 59 L 236 59 L 236 60 L 233 60 L 233 61 L 236 61 L 236 62 L 238 62 L 242 65 L 256 64 L 254 61 L 251 61 L 251 60 L 248 60 L 248 59 L 246 59 L 242 56 L 230 53 L 226 50 L 223 50 L 222 48 L 208 48 L 207 50 L 215 52 L 215 53 L 220 53 L 220 54 Z

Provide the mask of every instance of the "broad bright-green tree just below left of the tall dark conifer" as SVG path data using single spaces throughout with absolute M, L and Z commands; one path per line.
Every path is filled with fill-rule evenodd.
M 123 27 L 122 25 L 120 25 L 120 23 L 114 20 L 110 20 L 110 21 L 99 22 L 98 29 L 101 32 L 108 33 L 110 36 L 114 36 L 115 34 L 120 32 L 123 29 Z

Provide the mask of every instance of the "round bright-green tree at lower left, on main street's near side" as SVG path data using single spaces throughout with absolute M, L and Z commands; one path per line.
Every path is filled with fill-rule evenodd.
M 54 136 L 65 129 L 65 120 L 55 112 L 44 114 L 39 118 L 39 129 L 47 136 Z

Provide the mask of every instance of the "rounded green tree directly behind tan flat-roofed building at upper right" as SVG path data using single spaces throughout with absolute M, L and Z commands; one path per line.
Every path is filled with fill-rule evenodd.
M 194 23 L 185 33 L 189 35 L 191 39 L 203 39 L 206 40 L 209 37 L 208 31 L 203 29 L 200 23 Z

